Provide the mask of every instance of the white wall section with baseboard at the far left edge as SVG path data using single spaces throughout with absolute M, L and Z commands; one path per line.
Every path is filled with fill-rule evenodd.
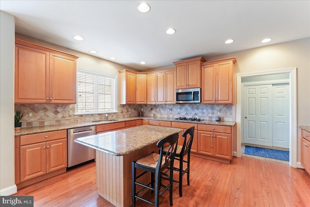
M 0 11 L 0 195 L 17 191 L 14 173 L 14 16 Z

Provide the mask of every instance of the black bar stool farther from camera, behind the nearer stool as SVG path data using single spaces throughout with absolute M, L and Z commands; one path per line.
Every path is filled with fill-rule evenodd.
M 176 153 L 175 153 L 175 159 L 179 160 L 180 167 L 179 168 L 173 167 L 173 170 L 179 172 L 179 180 L 173 180 L 173 182 L 179 183 L 179 195 L 180 195 L 180 197 L 182 197 L 182 185 L 183 185 L 183 179 L 182 178 L 183 178 L 183 175 L 186 173 L 187 173 L 187 185 L 189 185 L 190 149 L 192 147 L 192 143 L 193 143 L 193 139 L 194 139 L 194 129 L 195 129 L 195 127 L 190 127 L 188 129 L 186 129 L 185 132 L 182 133 L 182 137 L 184 137 L 184 143 L 182 146 L 180 146 L 180 145 L 177 146 Z M 187 135 L 189 135 L 188 138 L 187 138 Z M 167 152 L 168 151 L 167 149 L 165 147 L 164 152 Z M 184 157 L 186 155 L 187 155 L 187 160 L 184 160 Z M 183 169 L 183 163 L 187 163 L 185 170 Z M 163 179 L 170 179 L 170 175 L 167 175 L 166 173 L 162 174 L 165 176 L 162 178 Z

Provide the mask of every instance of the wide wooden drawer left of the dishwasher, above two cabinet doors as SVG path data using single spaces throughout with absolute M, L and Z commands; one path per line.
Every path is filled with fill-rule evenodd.
M 50 131 L 39 134 L 29 134 L 20 136 L 20 145 L 27 145 L 33 143 L 42 143 L 51 140 L 59 140 L 67 138 L 67 130 Z

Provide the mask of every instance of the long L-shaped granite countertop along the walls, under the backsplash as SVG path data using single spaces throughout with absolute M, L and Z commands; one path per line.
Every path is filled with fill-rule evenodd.
M 192 124 L 194 123 L 194 124 L 220 125 L 220 126 L 234 126 L 235 125 L 235 122 L 228 122 L 228 121 L 216 122 L 216 121 L 203 120 L 200 122 L 193 122 L 193 121 L 175 120 L 175 118 L 135 116 L 135 117 L 128 117 L 128 118 L 117 118 L 116 121 L 74 122 L 71 124 L 62 124 L 62 125 L 48 125 L 48 126 L 42 126 L 42 127 L 24 127 L 24 128 L 15 130 L 15 136 L 37 134 L 37 133 L 49 132 L 49 131 L 58 131 L 58 130 L 64 130 L 64 129 L 69 129 L 69 128 L 89 127 L 89 126 L 111 124 L 111 123 L 117 123 L 117 122 L 133 121 L 133 120 L 138 120 L 138 119 L 169 121 L 169 122 L 183 122 L 183 123 L 192 123 Z

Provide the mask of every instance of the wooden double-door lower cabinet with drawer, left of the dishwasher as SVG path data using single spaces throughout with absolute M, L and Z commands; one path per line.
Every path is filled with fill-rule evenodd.
M 66 172 L 67 130 L 15 137 L 17 188 Z

